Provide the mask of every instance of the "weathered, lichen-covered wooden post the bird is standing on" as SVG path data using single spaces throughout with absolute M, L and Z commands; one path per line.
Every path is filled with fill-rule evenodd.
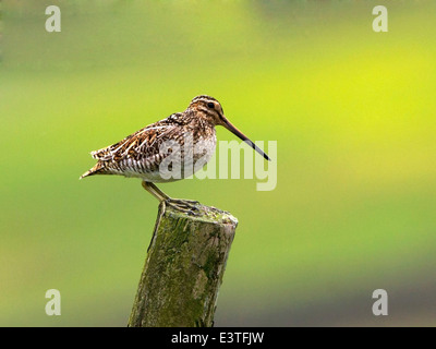
M 214 325 L 218 289 L 238 225 L 215 207 L 191 216 L 160 204 L 129 327 Z

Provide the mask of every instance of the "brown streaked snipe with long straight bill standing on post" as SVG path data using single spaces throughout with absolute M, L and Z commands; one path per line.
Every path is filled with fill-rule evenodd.
M 143 188 L 160 203 L 190 214 L 195 213 L 198 202 L 172 198 L 155 183 L 180 180 L 202 168 L 215 153 L 215 128 L 218 125 L 226 128 L 266 160 L 270 160 L 267 154 L 225 117 L 217 99 L 199 95 L 191 100 L 183 112 L 174 112 L 116 144 L 90 152 L 97 164 L 80 179 L 95 174 L 140 178 Z M 199 151 L 194 152 L 195 148 Z M 174 173 L 177 176 L 169 176 Z

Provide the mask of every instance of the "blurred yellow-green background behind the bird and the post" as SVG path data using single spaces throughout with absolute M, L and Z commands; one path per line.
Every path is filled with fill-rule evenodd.
M 384 1 L 388 33 L 377 4 L 2 2 L 0 325 L 126 325 L 157 202 L 136 179 L 78 176 L 198 94 L 278 142 L 274 191 L 161 185 L 239 218 L 216 326 L 436 325 L 436 3 Z

